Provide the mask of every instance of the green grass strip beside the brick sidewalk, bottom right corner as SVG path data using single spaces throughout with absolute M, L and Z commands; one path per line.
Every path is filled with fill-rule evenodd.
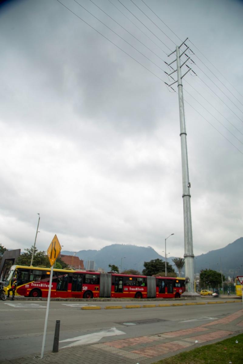
M 238 341 L 238 343 L 236 343 Z M 157 361 L 154 364 L 240 364 L 242 356 L 243 334 L 204 345 L 190 351 Z

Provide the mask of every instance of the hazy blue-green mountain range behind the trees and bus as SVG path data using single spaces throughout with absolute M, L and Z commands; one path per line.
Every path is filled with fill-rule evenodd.
M 100 250 L 79 250 L 79 252 L 63 251 L 62 254 L 76 255 L 83 260 L 86 265 L 88 260 L 95 262 L 95 269 L 103 268 L 109 271 L 109 264 L 118 266 L 119 269 L 136 269 L 142 272 L 144 262 L 152 259 L 165 260 L 151 246 L 143 247 L 136 245 L 112 244 Z M 167 259 L 173 265 L 172 259 Z M 195 256 L 195 273 L 200 273 L 201 269 L 213 269 L 228 277 L 243 275 L 243 237 L 228 244 L 224 248 L 211 250 L 208 253 Z M 176 271 L 176 269 L 175 269 Z

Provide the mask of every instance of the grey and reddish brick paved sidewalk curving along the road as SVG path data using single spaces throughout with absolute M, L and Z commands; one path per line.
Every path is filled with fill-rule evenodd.
M 1 364 L 151 364 L 181 351 L 243 333 L 243 309 L 192 329 L 60 349 L 40 357 L 0 361 Z

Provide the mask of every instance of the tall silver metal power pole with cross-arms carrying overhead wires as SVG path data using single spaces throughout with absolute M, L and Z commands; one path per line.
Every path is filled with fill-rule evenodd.
M 191 194 L 188 172 L 188 158 L 187 158 L 187 133 L 185 128 L 185 113 L 184 113 L 184 102 L 183 102 L 183 87 L 181 79 L 190 71 L 191 68 L 183 76 L 181 76 L 181 67 L 187 62 L 189 58 L 182 64 L 180 64 L 180 57 L 187 51 L 189 47 L 180 55 L 180 47 L 183 46 L 183 42 L 179 47 L 176 46 L 176 60 L 171 62 L 168 66 L 176 61 L 177 69 L 173 70 L 171 74 L 177 72 L 177 86 L 178 86 L 178 97 L 179 97 L 179 113 L 180 113 L 180 137 L 181 137 L 181 165 L 182 165 L 182 188 L 183 188 L 183 215 L 184 215 L 184 258 L 185 258 L 185 277 L 187 278 L 187 292 L 183 293 L 183 296 L 196 296 L 194 286 L 194 254 L 193 254 L 193 243 L 192 243 L 192 218 L 191 218 Z M 170 55 L 172 55 L 171 53 Z M 172 67 L 171 67 L 172 68 Z M 172 68 L 173 69 L 173 68 Z M 171 75 L 170 74 L 170 75 Z M 169 76 L 170 76 L 169 75 Z M 173 82 L 173 83 L 176 83 Z M 172 84 L 173 84 L 172 83 Z M 171 85 L 172 85 L 171 84 Z M 168 85 L 168 86 L 171 86 Z

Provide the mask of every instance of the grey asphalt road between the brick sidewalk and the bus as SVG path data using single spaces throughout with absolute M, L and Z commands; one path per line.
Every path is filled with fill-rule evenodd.
M 46 301 L 0 301 L 2 360 L 40 353 L 46 304 Z M 59 348 L 62 348 L 193 328 L 242 308 L 242 302 L 239 301 L 239 303 L 215 305 L 81 309 L 82 306 L 98 305 L 103 308 L 117 304 L 125 307 L 131 302 L 111 304 L 111 302 L 51 301 L 45 352 L 52 350 L 56 320 L 61 322 Z

